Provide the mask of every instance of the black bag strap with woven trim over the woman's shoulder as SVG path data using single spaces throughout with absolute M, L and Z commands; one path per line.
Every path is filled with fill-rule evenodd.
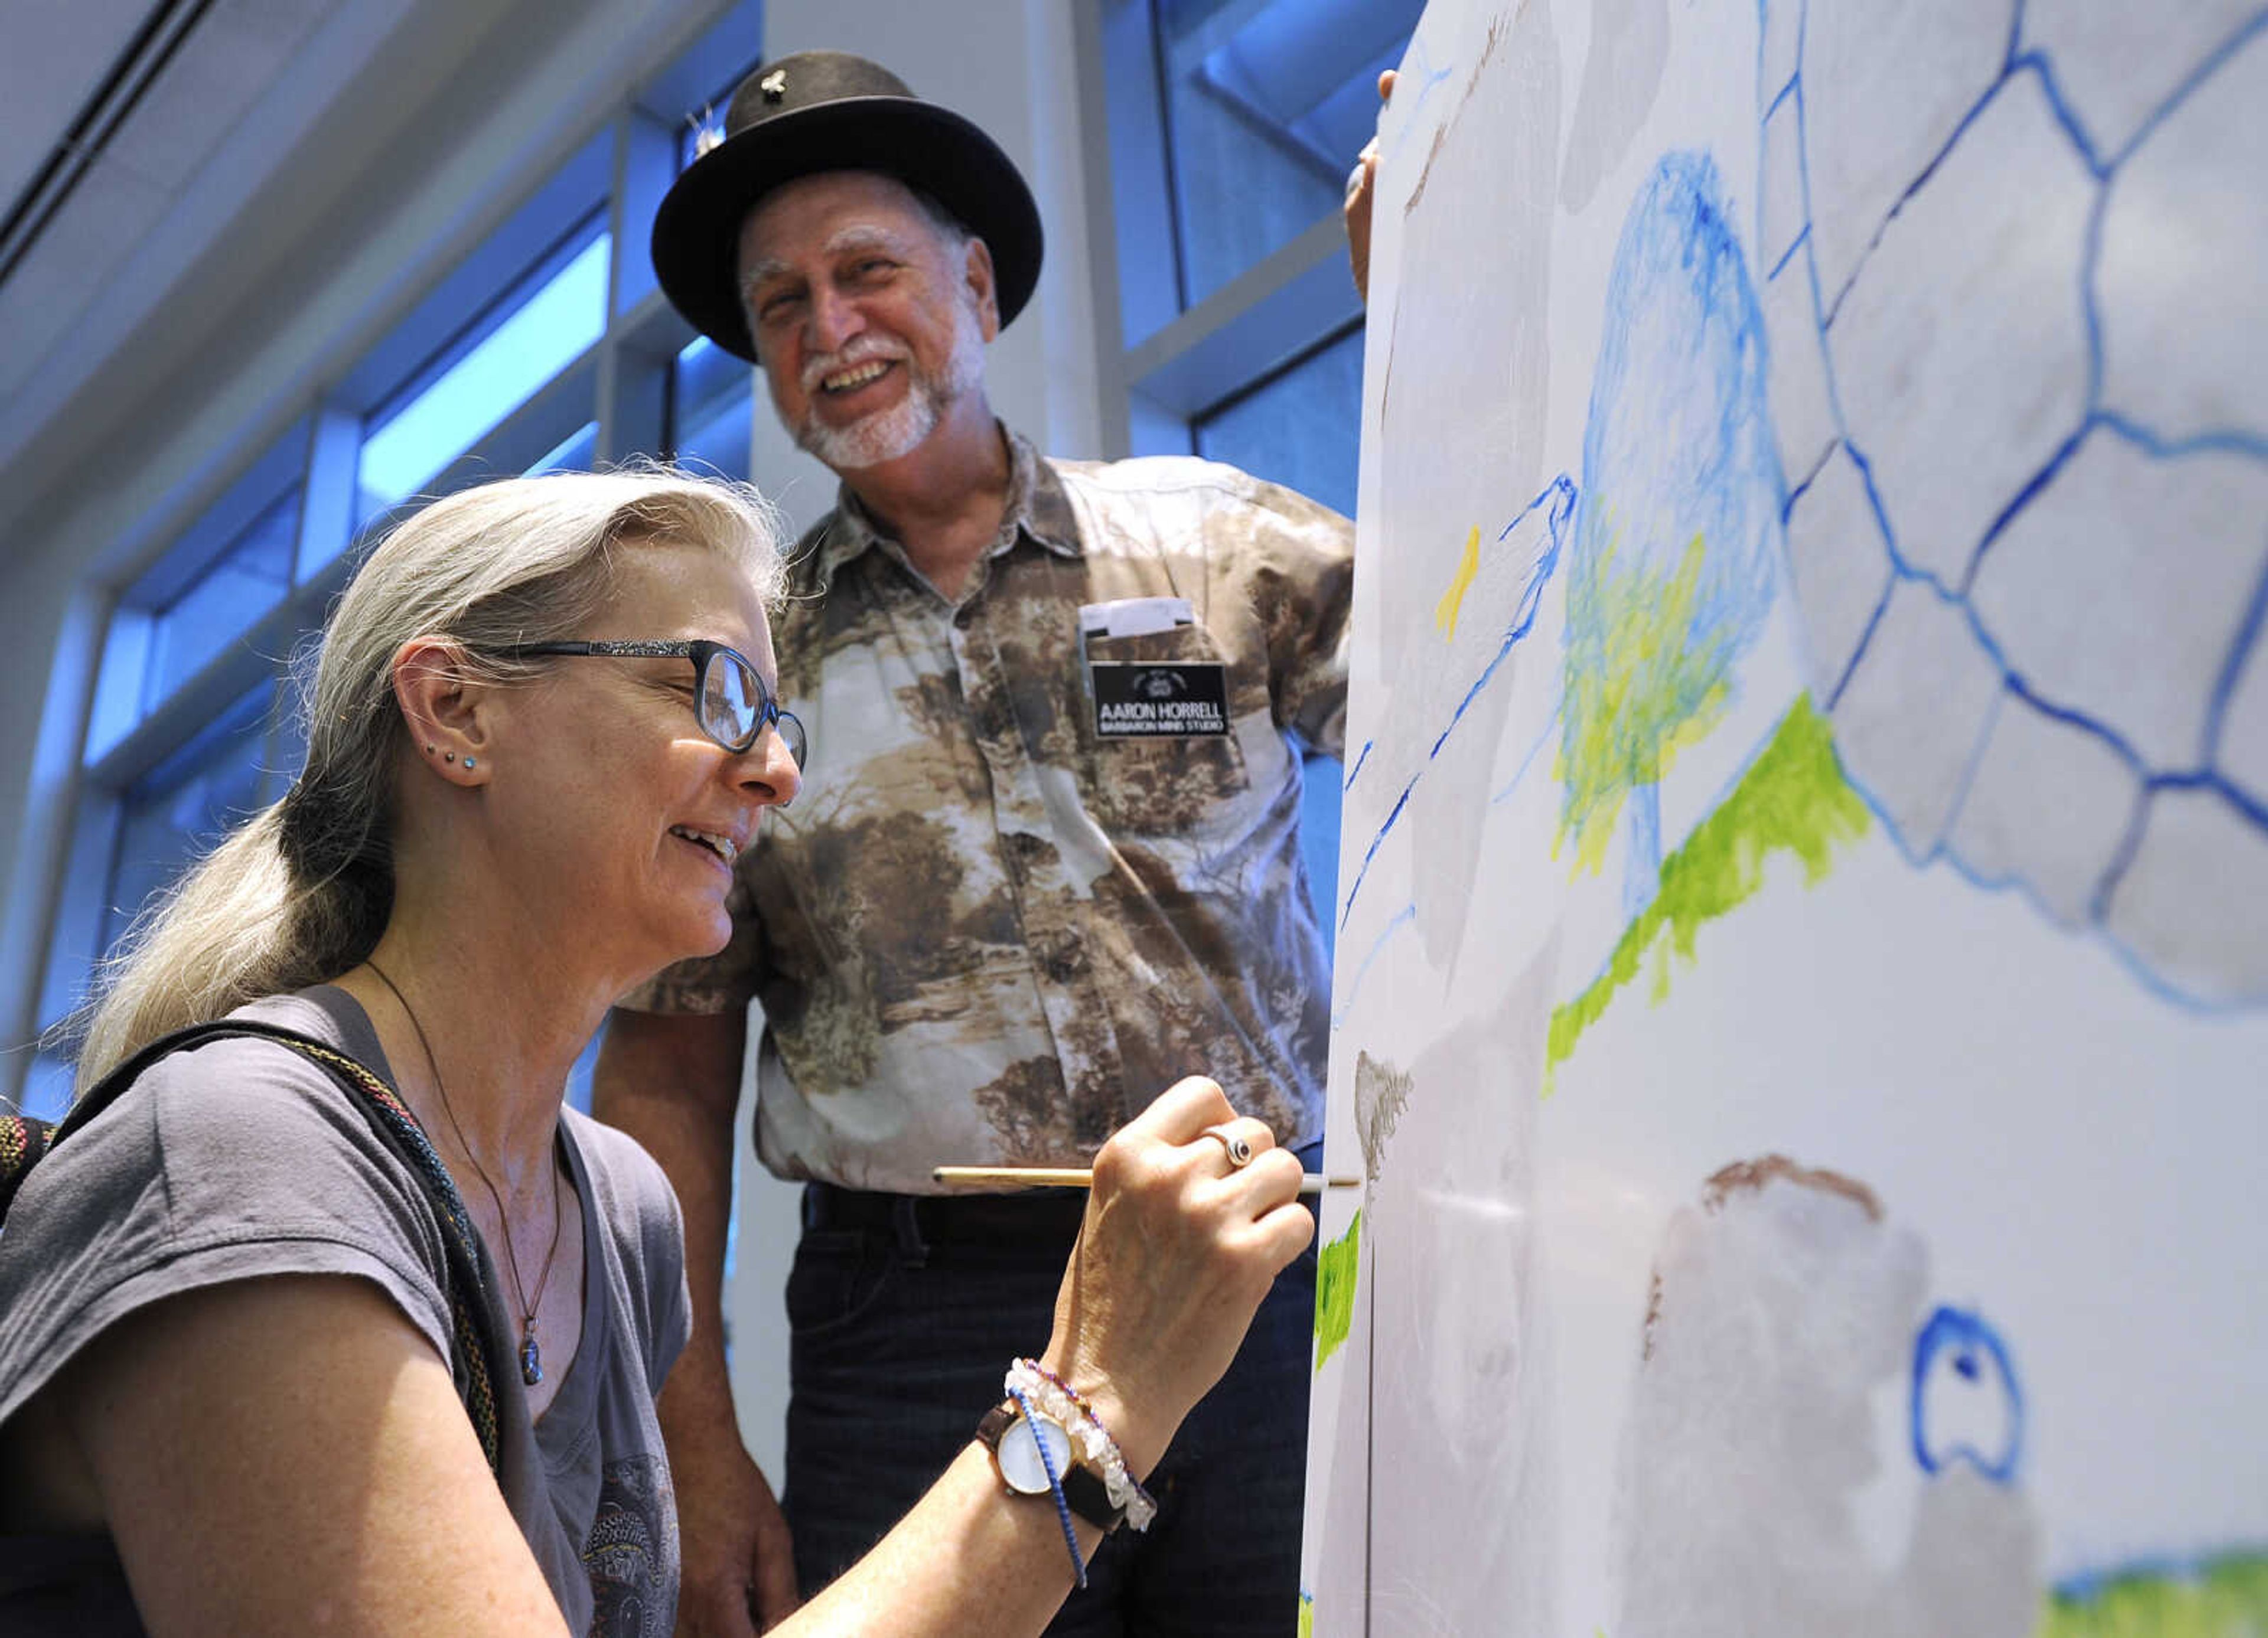
M 497 1436 L 497 1382 L 506 1379 L 506 1361 L 492 1352 L 490 1327 L 481 1323 L 481 1314 L 488 1307 L 488 1280 L 481 1273 L 481 1236 L 472 1227 L 465 1200 L 458 1196 L 456 1182 L 449 1177 L 449 1168 L 442 1164 L 440 1155 L 433 1152 L 433 1143 L 426 1139 L 417 1116 L 411 1114 L 408 1105 L 401 1103 L 401 1096 L 386 1082 L 386 1078 L 347 1053 L 340 1053 L 336 1046 L 327 1046 L 324 1041 L 302 1035 L 299 1030 L 286 1030 L 279 1023 L 261 1023 L 256 1019 L 215 1019 L 213 1023 L 193 1023 L 186 1030 L 161 1035 L 134 1053 L 118 1069 L 93 1084 L 59 1123 L 34 1121 L 23 1114 L 0 1116 L 0 1218 L 7 1216 L 7 1209 L 16 1198 L 16 1189 L 23 1187 L 32 1166 L 66 1137 L 109 1109 L 118 1096 L 150 1069 L 150 1064 L 170 1053 L 231 1037 L 259 1037 L 274 1041 L 277 1046 L 284 1046 L 327 1071 L 331 1080 L 347 1089 L 354 1105 L 370 1118 L 372 1130 L 376 1130 L 386 1146 L 395 1150 L 395 1155 L 424 1187 L 426 1202 L 433 1207 L 433 1216 L 438 1216 L 442 1225 L 442 1255 L 449 1275 L 449 1325 L 456 1332 L 449 1350 L 449 1375 L 456 1379 L 456 1393 L 465 1402 L 465 1416 L 472 1418 L 472 1432 L 481 1436 L 481 1454 L 488 1457 L 488 1470 L 501 1479 L 503 1457 Z

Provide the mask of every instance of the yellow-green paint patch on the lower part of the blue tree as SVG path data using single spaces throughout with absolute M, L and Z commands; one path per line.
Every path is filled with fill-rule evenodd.
M 1617 531 L 1619 535 L 1619 531 Z M 1551 776 L 1560 783 L 1560 828 L 1551 855 L 1574 837 L 1574 869 L 1594 876 L 1615 839 L 1615 819 L 1631 792 L 1660 785 L 1676 753 L 1724 717 L 1726 640 L 1692 642 L 1701 590 L 1701 535 L 1678 558 L 1676 574 L 1644 565 L 1619 569 L 1610 542 L 1579 558 L 1569 606 L 1567 692 L 1560 749 Z

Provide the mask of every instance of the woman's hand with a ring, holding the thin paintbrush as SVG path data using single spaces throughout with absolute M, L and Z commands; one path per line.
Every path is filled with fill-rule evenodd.
M 1209 1134 L 1222 1125 L 1250 1143 L 1250 1164 L 1234 1166 Z M 1211 1080 L 1179 1082 L 1095 1155 L 1046 1363 L 1095 1404 L 1136 1475 L 1229 1368 L 1268 1284 L 1313 1236 L 1297 1157 Z

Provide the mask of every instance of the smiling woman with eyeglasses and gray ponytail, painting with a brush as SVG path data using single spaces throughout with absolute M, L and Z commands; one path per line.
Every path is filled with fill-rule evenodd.
M 467 490 L 356 574 L 299 780 L 143 917 L 98 1112 L 7 1207 L 0 1631 L 671 1631 L 676 1200 L 562 1098 L 796 794 L 776 585 L 762 501 L 671 472 Z M 1166 1091 L 982 1443 L 787 1629 L 1039 1631 L 1306 1246 L 1297 1187 Z

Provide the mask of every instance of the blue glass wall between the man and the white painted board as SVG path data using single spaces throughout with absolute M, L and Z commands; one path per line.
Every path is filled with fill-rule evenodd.
M 1098 0 L 1134 454 L 1202 454 L 1354 515 L 1363 315 L 1340 202 L 1424 0 Z M 1334 926 L 1340 765 L 1306 769 Z

